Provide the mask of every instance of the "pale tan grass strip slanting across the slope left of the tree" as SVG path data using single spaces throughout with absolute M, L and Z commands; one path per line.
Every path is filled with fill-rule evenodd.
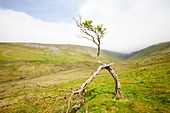
M 57 72 L 49 75 L 44 75 L 32 79 L 23 79 L 18 81 L 10 81 L 0 83 L 0 95 L 16 91 L 18 89 L 34 88 L 36 85 L 49 86 L 60 83 L 66 83 L 73 80 L 87 79 L 90 75 L 89 68 L 73 69 L 69 71 Z

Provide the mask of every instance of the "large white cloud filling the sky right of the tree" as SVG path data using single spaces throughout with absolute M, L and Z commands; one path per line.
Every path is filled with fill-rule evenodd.
M 103 48 L 132 52 L 170 41 L 168 0 L 87 0 L 80 12 L 108 28 Z

